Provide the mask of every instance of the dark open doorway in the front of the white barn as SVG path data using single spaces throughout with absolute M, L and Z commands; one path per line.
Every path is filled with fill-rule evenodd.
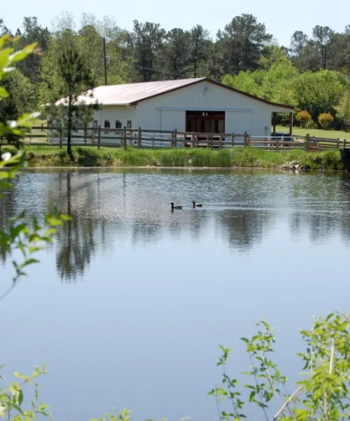
M 225 112 L 186 111 L 186 132 L 225 133 Z

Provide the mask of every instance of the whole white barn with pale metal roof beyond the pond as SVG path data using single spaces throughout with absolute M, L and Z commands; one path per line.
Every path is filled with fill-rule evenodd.
M 94 88 L 98 101 L 91 126 L 148 131 L 271 134 L 272 114 L 293 109 L 255 97 L 208 78 L 127 83 Z M 291 131 L 290 124 L 290 131 Z M 291 134 L 291 133 L 290 133 Z

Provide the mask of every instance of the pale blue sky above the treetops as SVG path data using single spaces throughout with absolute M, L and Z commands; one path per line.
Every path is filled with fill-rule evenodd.
M 55 15 L 67 11 L 73 13 L 76 22 L 85 12 L 97 18 L 109 15 L 125 29 L 132 29 L 132 21 L 137 19 L 158 22 L 165 29 L 190 29 L 199 24 L 215 36 L 236 15 L 251 13 L 265 23 L 279 44 L 288 45 L 295 30 L 311 34 L 312 27 L 323 25 L 341 32 L 350 25 L 349 0 L 3 0 L 1 3 L 0 17 L 13 30 L 21 25 L 24 16 L 36 16 L 42 25 L 50 27 Z

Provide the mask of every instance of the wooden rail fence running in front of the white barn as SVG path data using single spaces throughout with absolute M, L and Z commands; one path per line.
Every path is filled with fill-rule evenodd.
M 37 126 L 29 129 L 25 142 L 33 145 L 66 145 L 66 138 L 55 127 Z M 142 148 L 193 148 L 256 147 L 272 151 L 303 149 L 322 151 L 350 147 L 350 139 L 315 138 L 310 135 L 251 136 L 248 133 L 194 133 L 179 131 L 153 131 L 141 128 L 84 128 L 71 133 L 75 146 L 142 147 Z

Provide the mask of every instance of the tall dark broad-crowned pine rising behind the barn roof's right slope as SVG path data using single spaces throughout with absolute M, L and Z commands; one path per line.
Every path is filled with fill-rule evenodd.
M 236 16 L 218 31 L 217 47 L 223 52 L 223 70 L 235 74 L 240 69 L 257 69 L 263 48 L 272 35 L 253 15 Z

